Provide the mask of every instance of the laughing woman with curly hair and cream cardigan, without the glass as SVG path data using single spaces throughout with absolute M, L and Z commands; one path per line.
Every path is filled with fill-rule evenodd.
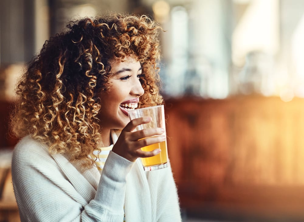
M 137 160 L 160 152 L 140 147 L 164 141 L 163 129 L 133 132 L 150 119 L 127 116 L 163 102 L 160 29 L 147 16 L 81 19 L 29 63 L 12 115 L 22 221 L 181 220 L 171 168 L 144 172 Z

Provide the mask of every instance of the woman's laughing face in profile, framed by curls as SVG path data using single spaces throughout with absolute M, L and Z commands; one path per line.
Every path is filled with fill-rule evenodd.
M 139 81 L 141 65 L 134 57 L 124 62 L 116 58 L 111 63 L 114 76 L 109 80 L 111 88 L 100 95 L 99 119 L 104 130 L 123 129 L 130 122 L 128 110 L 135 109 L 144 90 Z

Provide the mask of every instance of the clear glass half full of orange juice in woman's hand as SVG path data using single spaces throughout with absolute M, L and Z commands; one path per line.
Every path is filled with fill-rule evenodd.
M 143 116 L 150 116 L 152 118 L 150 123 L 141 124 L 136 127 L 136 130 L 143 130 L 146 128 L 157 128 L 161 127 L 165 129 L 163 135 L 166 135 L 166 126 L 165 126 L 165 113 L 164 105 L 151 106 L 141 109 L 134 109 L 128 111 L 130 120 L 140 118 Z M 149 146 L 142 147 L 142 151 L 153 151 L 155 149 L 161 149 L 161 152 L 153 157 L 141 158 L 143 164 L 143 169 L 145 171 L 157 170 L 168 167 L 168 151 L 167 151 L 167 140 L 151 144 Z

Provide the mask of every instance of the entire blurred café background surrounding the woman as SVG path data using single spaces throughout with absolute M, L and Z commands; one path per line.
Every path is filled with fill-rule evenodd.
M 303 0 L 1 0 L 0 221 L 19 221 L 16 79 L 67 21 L 112 11 L 166 30 L 160 74 L 183 221 L 304 221 Z

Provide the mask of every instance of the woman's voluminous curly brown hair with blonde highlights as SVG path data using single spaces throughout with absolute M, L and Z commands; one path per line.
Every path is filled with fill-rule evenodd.
M 42 141 L 51 154 L 69 153 L 72 161 L 92 166 L 88 154 L 101 141 L 98 94 L 110 88 L 111 60 L 136 56 L 144 73 L 139 107 L 163 103 L 159 30 L 145 15 L 110 14 L 69 22 L 28 63 L 16 90 L 12 132 Z

